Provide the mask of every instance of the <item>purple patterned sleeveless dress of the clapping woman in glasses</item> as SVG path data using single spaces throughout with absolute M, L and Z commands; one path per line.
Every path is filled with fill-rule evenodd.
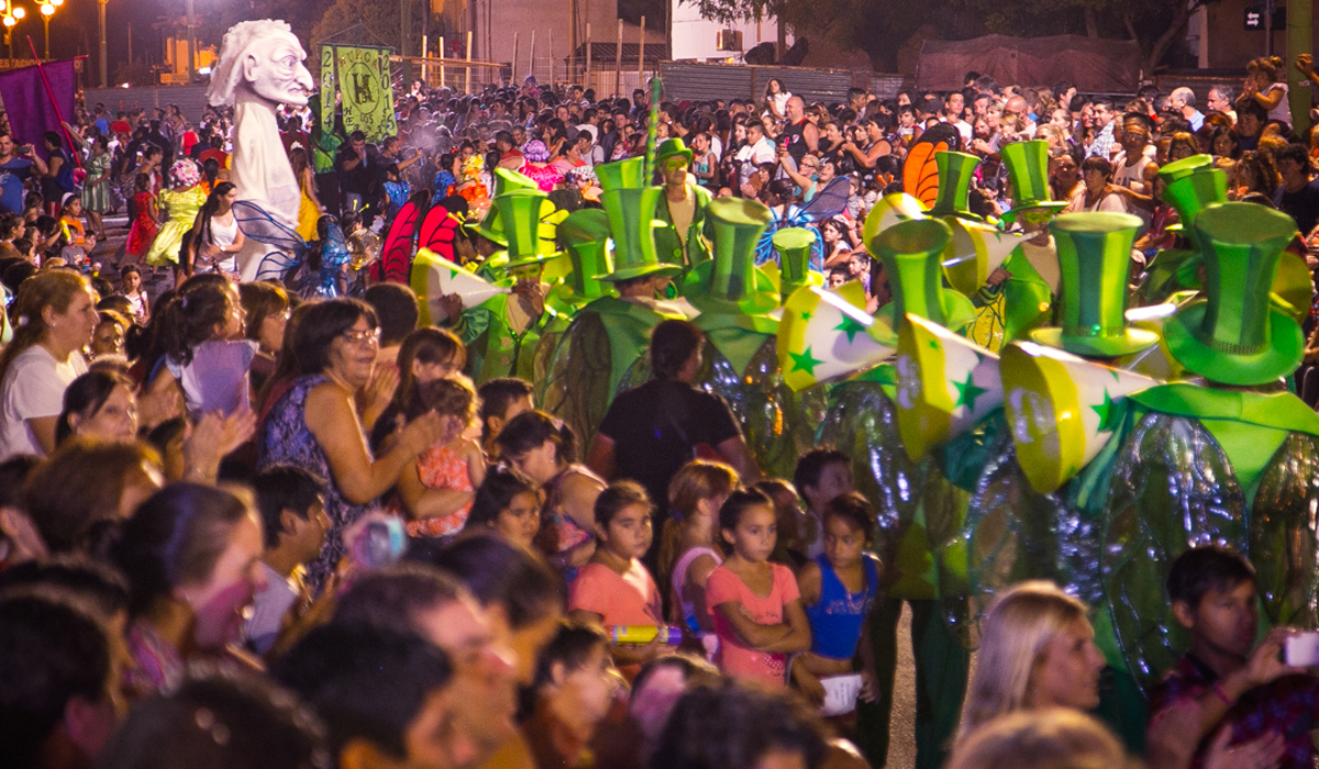
M 270 408 L 257 439 L 257 470 L 272 464 L 291 464 L 314 472 L 326 480 L 326 514 L 330 516 L 330 530 L 321 557 L 307 565 L 307 583 L 314 592 L 334 571 L 339 559 L 347 553 L 343 546 L 343 532 L 367 513 L 371 504 L 355 505 L 343 497 L 339 483 L 330 470 L 317 437 L 311 434 L 306 421 L 307 393 L 318 384 L 330 381 L 321 373 L 301 376 L 294 380 L 284 396 Z

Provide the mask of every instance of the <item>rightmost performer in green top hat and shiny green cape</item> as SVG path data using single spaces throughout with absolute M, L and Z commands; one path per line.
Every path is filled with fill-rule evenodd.
M 1103 404 L 1113 438 L 1068 495 L 1097 521 L 1097 558 L 1087 569 L 1105 596 L 1096 617 L 1100 637 L 1112 640 L 1105 656 L 1146 691 L 1184 650 L 1162 586 L 1191 543 L 1227 543 L 1249 557 L 1269 624 L 1319 619 L 1314 566 L 1297 558 L 1319 550 L 1311 524 L 1319 415 L 1282 385 L 1304 344 L 1269 298 L 1297 227 L 1253 203 L 1210 206 L 1192 226 L 1204 292 L 1163 334 L 1171 356 L 1202 381 Z

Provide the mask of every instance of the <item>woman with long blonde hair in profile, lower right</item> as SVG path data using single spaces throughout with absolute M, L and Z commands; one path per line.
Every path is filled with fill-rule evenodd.
M 1024 582 L 998 599 L 984 621 L 959 741 L 1010 712 L 1099 706 L 1104 656 L 1087 612 L 1083 601 L 1043 580 Z

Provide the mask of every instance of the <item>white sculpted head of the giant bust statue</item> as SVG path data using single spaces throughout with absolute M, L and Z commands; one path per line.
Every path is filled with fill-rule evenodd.
M 306 58 L 284 21 L 240 21 L 224 33 L 207 99 L 214 106 L 233 104 L 243 87 L 273 104 L 302 107 L 315 88 L 302 63 Z

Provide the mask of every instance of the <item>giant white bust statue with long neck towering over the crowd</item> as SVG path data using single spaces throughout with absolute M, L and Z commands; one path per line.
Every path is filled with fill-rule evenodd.
M 265 208 L 276 220 L 297 227 L 302 193 L 280 140 L 276 108 L 302 107 L 315 84 L 302 63 L 307 53 L 284 21 L 240 21 L 220 44 L 211 70 L 207 99 L 212 106 L 233 107 L 233 154 L 230 181 L 239 198 Z M 244 248 L 243 278 L 252 280 L 265 249 Z

